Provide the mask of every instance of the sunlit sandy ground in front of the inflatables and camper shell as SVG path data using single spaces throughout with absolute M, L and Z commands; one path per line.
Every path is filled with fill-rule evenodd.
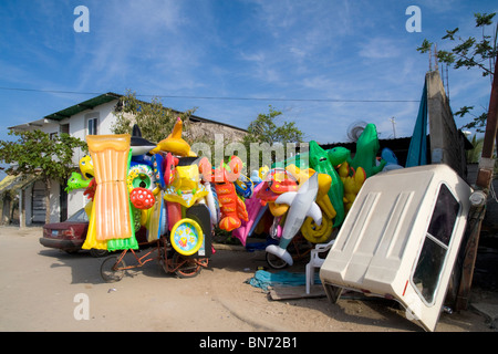
M 423 331 L 382 300 L 273 301 L 246 283 L 267 266 L 263 252 L 218 250 L 209 268 L 193 279 L 166 274 L 152 261 L 106 283 L 100 275 L 105 258 L 44 248 L 40 237 L 41 228 L 0 227 L 0 331 Z M 292 271 L 303 272 L 304 266 Z M 83 303 L 89 317 L 77 320 Z M 469 310 L 443 313 L 436 331 L 494 330 Z

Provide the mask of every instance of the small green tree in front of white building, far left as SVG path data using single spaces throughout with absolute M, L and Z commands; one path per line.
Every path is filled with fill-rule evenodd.
M 17 140 L 0 140 L 0 160 L 10 164 L 8 175 L 37 175 L 45 185 L 45 222 L 50 222 L 51 181 L 64 184 L 77 167 L 73 164 L 75 148 L 87 152 L 86 143 L 69 134 L 50 136 L 41 131 L 11 131 Z

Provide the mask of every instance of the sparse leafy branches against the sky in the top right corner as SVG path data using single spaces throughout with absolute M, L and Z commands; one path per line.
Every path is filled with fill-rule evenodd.
M 446 30 L 446 35 L 442 39 L 450 42 L 457 42 L 455 46 L 449 51 L 439 50 L 437 51 L 437 60 L 440 63 L 445 63 L 454 69 L 467 67 L 467 70 L 473 67 L 478 67 L 481 70 L 483 76 L 488 76 L 494 74 L 495 61 L 497 56 L 497 38 L 498 38 L 498 25 L 495 27 L 494 35 L 486 34 L 486 29 L 492 25 L 494 13 L 475 13 L 474 18 L 476 21 L 476 28 L 481 29 L 481 39 L 477 40 L 474 37 L 461 38 L 458 35 L 459 29 Z M 427 39 L 424 39 L 422 45 L 417 48 L 421 53 L 426 53 L 430 51 L 433 43 Z M 455 115 L 464 117 L 470 114 L 474 118 L 470 123 L 464 125 L 464 128 L 475 128 L 477 132 L 483 133 L 486 127 L 486 121 L 488 117 L 487 112 L 480 115 L 473 114 L 471 111 L 474 106 L 464 106 L 458 110 Z

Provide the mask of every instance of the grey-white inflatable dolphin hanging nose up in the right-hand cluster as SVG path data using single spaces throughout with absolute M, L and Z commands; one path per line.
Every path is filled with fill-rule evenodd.
M 267 247 L 267 252 L 272 253 L 289 266 L 293 264 L 292 257 L 287 251 L 287 247 L 294 236 L 301 229 L 302 223 L 307 217 L 310 217 L 314 222 L 320 226 L 322 223 L 322 211 L 320 207 L 314 202 L 318 194 L 318 175 L 311 176 L 298 191 L 288 191 L 280 195 L 276 204 L 287 204 L 290 206 L 286 223 L 283 225 L 283 232 L 280 239 L 279 246 L 270 244 Z

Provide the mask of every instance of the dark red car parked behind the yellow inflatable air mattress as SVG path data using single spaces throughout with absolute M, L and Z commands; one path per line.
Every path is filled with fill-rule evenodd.
M 46 223 L 43 226 L 43 237 L 40 243 L 48 248 L 55 248 L 68 253 L 80 251 L 86 239 L 89 231 L 89 217 L 85 209 L 77 210 L 73 216 L 63 222 Z M 136 232 L 138 243 L 147 242 L 146 229 L 141 228 Z M 106 250 L 91 249 L 93 257 L 104 257 L 108 252 Z

